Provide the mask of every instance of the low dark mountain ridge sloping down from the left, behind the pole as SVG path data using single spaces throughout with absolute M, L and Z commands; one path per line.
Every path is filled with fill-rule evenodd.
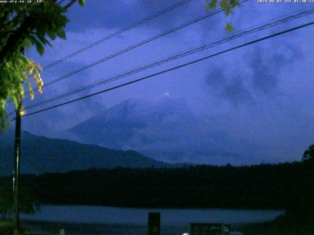
M 13 172 L 14 132 L 0 133 L 0 175 Z M 171 167 L 134 150 L 115 150 L 94 144 L 51 139 L 22 131 L 21 172 L 65 172 L 88 168 Z

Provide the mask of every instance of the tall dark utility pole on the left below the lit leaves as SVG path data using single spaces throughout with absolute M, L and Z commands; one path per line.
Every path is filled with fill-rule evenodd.
M 22 48 L 24 53 L 24 48 Z M 20 176 L 20 145 L 21 145 L 21 118 L 22 95 L 17 94 L 18 108 L 15 117 L 15 144 L 14 144 L 14 172 L 13 172 L 13 235 L 19 235 L 19 176 Z

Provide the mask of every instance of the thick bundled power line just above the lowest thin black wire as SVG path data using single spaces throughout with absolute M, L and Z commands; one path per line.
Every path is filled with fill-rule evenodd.
M 314 8 L 311 8 L 310 10 L 307 10 L 307 11 L 303 11 L 301 13 L 298 13 L 298 14 L 295 14 L 295 15 L 292 15 L 292 16 L 288 16 L 286 18 L 283 18 L 283 19 L 280 19 L 278 21 L 275 21 L 275 22 L 271 22 L 271 23 L 268 23 L 268 24 L 264 24 L 262 26 L 259 26 L 259 27 L 255 27 L 255 28 L 252 28 L 250 30 L 245 30 L 245 31 L 242 31 L 240 33 L 237 33 L 233 36 L 230 36 L 230 37 L 224 37 L 223 39 L 219 40 L 219 41 L 215 41 L 213 43 L 209 43 L 209 44 L 203 44 L 202 46 L 199 46 L 199 47 L 194 47 L 192 49 L 189 49 L 187 51 L 184 51 L 182 53 L 177 53 L 176 55 L 173 55 L 173 56 L 170 56 L 170 57 L 167 57 L 167 58 L 164 58 L 164 59 L 161 59 L 157 62 L 153 62 L 151 64 L 148 64 L 144 67 L 138 67 L 136 69 L 133 69 L 133 70 L 130 70 L 130 71 L 127 71 L 127 72 L 124 72 L 124 73 L 121 73 L 119 75 L 115 75 L 115 76 L 112 76 L 108 79 L 105 79 L 103 81 L 99 81 L 99 82 L 96 82 L 96 83 L 93 83 L 91 85 L 88 85 L 88 86 L 84 86 L 84 87 L 81 87 L 77 90 L 74 90 L 74 91 L 71 91 L 71 92 L 68 92 L 66 94 L 62 94 L 62 95 L 57 95 L 57 96 L 54 96 L 52 98 L 49 98 L 49 99 L 46 99 L 42 102 L 39 102 L 39 103 L 36 103 L 36 104 L 33 104 L 33 105 L 30 105 L 30 106 L 27 106 L 25 107 L 24 109 L 31 109 L 31 108 L 35 108 L 35 107 L 38 107 L 38 106 L 41 106 L 41 105 L 44 105 L 44 104 L 47 104 L 47 103 L 50 103 L 52 101 L 55 101 L 55 100 L 58 100 L 58 99 L 61 99 L 61 98 L 64 98 L 64 97 L 67 97 L 67 96 L 70 96 L 70 95 L 73 95 L 73 94 L 78 94 L 79 92 L 83 92 L 83 91 L 86 91 L 88 89 L 91 89 L 91 88 L 94 88 L 94 87 L 97 87 L 97 86 L 100 86 L 100 85 L 103 85 L 103 84 L 106 84 L 106 83 L 109 83 L 109 82 L 112 82 L 112 81 L 115 81 L 115 80 L 118 80 L 118 79 L 121 79 L 123 77 L 126 77 L 126 76 L 129 76 L 131 74 L 134 74 L 134 73 L 137 73 L 137 72 L 140 72 L 140 71 L 145 71 L 145 70 L 148 70 L 148 69 L 151 69 L 153 67 L 156 67 L 156 66 L 159 66 L 161 64 L 164 64 L 164 63 L 167 63 L 167 62 L 170 62 L 172 60 L 176 60 L 176 59 L 179 59 L 179 58 L 182 58 L 184 56 L 187 56 L 187 55 L 190 55 L 190 54 L 194 54 L 196 52 L 200 52 L 200 51 L 203 51 L 203 50 L 206 50 L 206 49 L 209 49 L 211 47 L 215 47 L 217 45 L 220 45 L 220 44 L 223 44 L 223 43 L 226 43 L 226 42 L 229 42 L 231 40 L 235 40 L 236 38 L 240 38 L 240 37 L 243 37 L 245 35 L 248 35 L 248 34 L 252 34 L 254 32 L 258 32 L 258 31 L 261 31 L 261 30 L 264 30 L 264 29 L 267 29 L 267 28 L 270 28 L 270 27 L 273 27 L 273 26 L 276 26 L 278 24 L 283 24 L 283 23 L 286 23 L 288 21 L 291 21 L 291 20 L 294 20 L 294 19 L 298 19 L 300 17 L 303 17 L 303 16 L 307 16 L 307 15 L 310 15 L 310 14 L 313 14 L 314 13 Z

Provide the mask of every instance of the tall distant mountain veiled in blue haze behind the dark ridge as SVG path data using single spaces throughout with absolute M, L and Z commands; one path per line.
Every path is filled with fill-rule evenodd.
M 228 128 L 228 118 L 196 115 L 185 100 L 165 93 L 147 102 L 125 100 L 69 132 L 78 141 L 134 149 L 164 162 L 259 163 L 257 147 L 221 131 Z

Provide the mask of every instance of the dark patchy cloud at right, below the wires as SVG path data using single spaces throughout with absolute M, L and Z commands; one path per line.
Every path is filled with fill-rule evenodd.
M 300 47 L 288 43 L 284 45 L 272 49 L 254 47 L 243 56 L 249 60 L 243 60 L 235 68 L 211 66 L 205 82 L 217 98 L 235 105 L 254 103 L 255 98 L 262 96 L 273 97 L 280 93 L 278 88 L 281 71 L 302 58 Z M 251 75 L 243 68 L 249 68 Z

